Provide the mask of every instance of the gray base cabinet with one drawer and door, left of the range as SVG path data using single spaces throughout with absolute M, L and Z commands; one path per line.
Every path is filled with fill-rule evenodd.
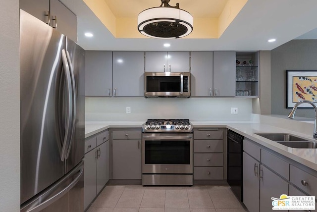
M 142 131 L 112 131 L 112 179 L 142 178 Z

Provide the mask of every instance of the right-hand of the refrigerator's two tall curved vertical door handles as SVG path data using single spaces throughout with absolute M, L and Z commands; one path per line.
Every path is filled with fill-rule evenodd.
M 70 139 L 69 139 L 69 145 L 67 148 L 67 155 L 66 155 L 66 159 L 68 159 L 69 157 L 69 153 L 70 153 L 70 149 L 71 149 L 71 144 L 72 144 L 72 140 L 73 140 L 73 134 L 74 134 L 74 129 L 75 129 L 75 123 L 76 123 L 76 84 L 75 84 L 75 77 L 74 77 L 74 66 L 71 63 L 71 58 L 70 55 L 68 53 L 68 51 L 66 52 L 66 56 L 67 56 L 67 60 L 68 60 L 68 64 L 69 64 L 69 73 L 71 76 L 71 85 L 72 85 L 72 101 L 73 101 L 73 108 L 72 108 L 72 116 L 73 116 L 73 120 L 72 120 L 72 125 L 71 125 L 71 131 L 70 131 Z

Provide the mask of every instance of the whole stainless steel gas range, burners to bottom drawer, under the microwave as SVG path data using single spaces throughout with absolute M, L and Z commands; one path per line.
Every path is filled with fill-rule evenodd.
M 189 119 L 149 119 L 143 125 L 142 185 L 193 185 Z

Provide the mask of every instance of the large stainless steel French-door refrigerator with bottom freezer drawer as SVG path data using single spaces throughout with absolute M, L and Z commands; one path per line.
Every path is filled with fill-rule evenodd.
M 85 51 L 20 10 L 21 212 L 84 211 Z

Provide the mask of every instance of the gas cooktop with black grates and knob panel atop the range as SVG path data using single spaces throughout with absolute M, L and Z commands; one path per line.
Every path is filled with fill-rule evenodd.
M 193 126 L 189 119 L 148 119 L 142 126 L 144 133 L 147 132 L 193 132 Z

